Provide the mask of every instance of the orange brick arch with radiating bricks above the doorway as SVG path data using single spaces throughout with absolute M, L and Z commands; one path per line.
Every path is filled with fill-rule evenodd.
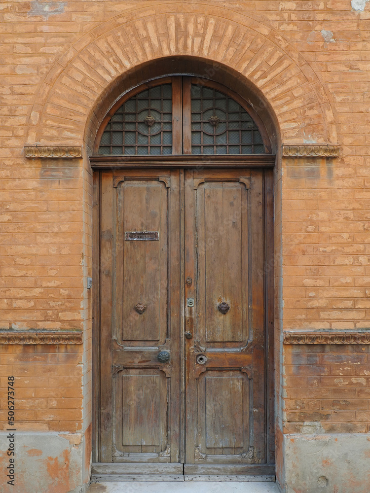
M 227 9 L 212 7 L 210 14 L 202 4 L 182 3 L 178 8 L 180 12 L 171 4 L 173 12 L 165 12 L 163 5 L 125 12 L 76 42 L 40 88 L 28 143 L 85 142 L 91 149 L 94 132 L 109 107 L 143 82 L 147 72 L 158 76 L 170 68 L 172 73 L 181 69 L 176 73 L 204 76 L 207 67 L 221 67 L 209 78 L 223 79 L 242 96 L 249 89 L 250 102 L 266 113 L 271 129 L 275 120 L 276 132 L 285 143 L 336 143 L 325 90 L 284 38 Z

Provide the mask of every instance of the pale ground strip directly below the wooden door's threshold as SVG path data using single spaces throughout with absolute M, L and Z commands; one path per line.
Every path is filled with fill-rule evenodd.
M 87 493 L 280 493 L 275 483 L 233 481 L 104 481 Z

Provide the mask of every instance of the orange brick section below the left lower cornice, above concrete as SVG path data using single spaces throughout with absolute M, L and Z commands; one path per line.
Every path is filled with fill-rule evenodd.
M 81 431 L 80 348 L 72 346 L 0 346 L 0 421 L 8 428 L 7 377 L 15 376 L 17 431 Z

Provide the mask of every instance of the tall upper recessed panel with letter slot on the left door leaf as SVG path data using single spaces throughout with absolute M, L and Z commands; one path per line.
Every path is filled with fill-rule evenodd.
M 118 184 L 117 267 L 122 277 L 117 283 L 122 290 L 117 290 L 117 307 L 122 308 L 122 331 L 117 335 L 129 345 L 163 344 L 166 338 L 167 216 L 163 181 L 126 179 Z

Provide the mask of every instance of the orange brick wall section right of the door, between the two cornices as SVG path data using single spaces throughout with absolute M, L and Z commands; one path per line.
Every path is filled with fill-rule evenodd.
M 354 156 L 356 150 L 354 146 L 352 155 L 331 163 L 287 163 L 282 205 L 285 328 L 369 327 L 370 168 L 369 156 Z

